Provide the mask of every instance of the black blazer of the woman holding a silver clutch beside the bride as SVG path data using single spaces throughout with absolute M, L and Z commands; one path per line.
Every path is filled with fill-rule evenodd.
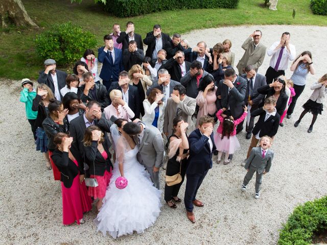
M 98 150 L 98 141 L 92 141 L 90 146 L 84 145 L 85 162 L 89 165 L 89 175 L 103 176 L 105 170 L 110 172 L 112 163 L 110 161 L 110 152 L 107 140 L 108 138 L 105 138 L 104 142 L 102 143 L 103 148 L 108 155 L 106 160 L 104 160 L 103 156 Z

